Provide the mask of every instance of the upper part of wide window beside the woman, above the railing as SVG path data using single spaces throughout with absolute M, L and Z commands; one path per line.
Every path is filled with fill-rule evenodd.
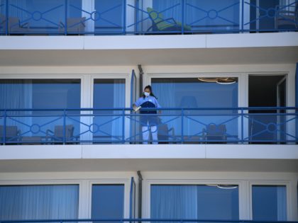
M 166 108 L 233 108 L 238 105 L 238 81 L 217 84 L 197 78 L 152 79 L 160 105 Z

